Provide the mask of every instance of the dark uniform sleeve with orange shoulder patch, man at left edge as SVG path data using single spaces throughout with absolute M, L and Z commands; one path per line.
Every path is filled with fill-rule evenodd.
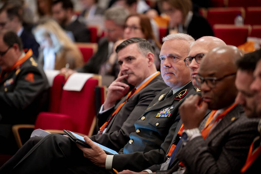
M 28 73 L 33 73 L 34 82 L 25 80 Z M 17 79 L 13 92 L 0 92 L 0 113 L 10 108 L 25 109 L 42 93 L 47 83 L 47 81 L 45 81 L 46 79 L 44 79 L 39 70 L 37 70 L 37 67 L 21 69 Z

